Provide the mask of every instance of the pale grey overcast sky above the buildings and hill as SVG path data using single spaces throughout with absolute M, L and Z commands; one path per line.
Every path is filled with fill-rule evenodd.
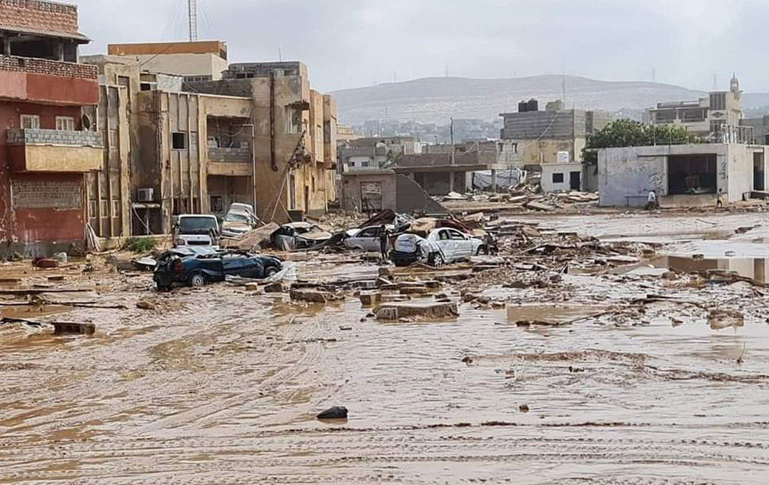
M 66 1 L 66 0 L 65 0 Z M 187 0 L 76 0 L 94 42 L 187 38 Z M 198 0 L 230 61 L 301 60 L 321 91 L 449 75 L 541 74 L 769 92 L 766 0 Z M 397 73 L 397 74 L 396 74 Z

